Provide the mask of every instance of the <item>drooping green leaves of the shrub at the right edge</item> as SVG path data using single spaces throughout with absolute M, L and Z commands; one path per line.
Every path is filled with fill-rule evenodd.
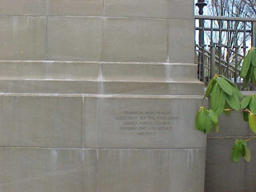
M 247 87 L 250 80 L 256 85 L 256 50 L 254 47 L 243 58 L 240 76 L 245 79 L 244 87 Z M 195 129 L 208 134 L 214 127 L 218 132 L 220 129 L 218 117 L 222 113 L 229 116 L 232 111 L 236 111 L 242 113 L 243 120 L 249 123 L 250 129 L 256 134 L 256 95 L 243 98 L 243 94 L 235 83 L 225 76 L 216 75 L 207 86 L 205 98 L 210 98 L 210 109 L 200 107 L 195 117 Z M 240 157 L 250 161 L 247 142 L 254 138 L 256 136 L 247 140 L 236 140 L 232 147 L 232 161 L 237 163 Z

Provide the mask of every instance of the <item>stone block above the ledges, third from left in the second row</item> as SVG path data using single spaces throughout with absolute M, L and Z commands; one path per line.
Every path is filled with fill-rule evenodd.
M 104 20 L 103 61 L 159 61 L 167 55 L 166 20 Z

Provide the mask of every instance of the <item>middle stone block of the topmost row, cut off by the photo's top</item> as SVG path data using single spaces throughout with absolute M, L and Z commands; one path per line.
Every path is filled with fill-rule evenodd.
M 48 15 L 102 16 L 103 0 L 48 0 Z

